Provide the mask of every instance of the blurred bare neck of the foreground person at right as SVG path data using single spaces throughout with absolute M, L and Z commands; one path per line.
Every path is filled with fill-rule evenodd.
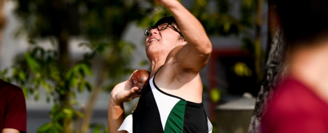
M 328 42 L 295 50 L 290 72 L 328 103 Z

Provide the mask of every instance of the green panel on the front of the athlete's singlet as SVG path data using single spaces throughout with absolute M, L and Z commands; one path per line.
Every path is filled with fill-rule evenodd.
M 183 133 L 183 119 L 186 101 L 180 100 L 171 110 L 165 124 L 164 133 Z

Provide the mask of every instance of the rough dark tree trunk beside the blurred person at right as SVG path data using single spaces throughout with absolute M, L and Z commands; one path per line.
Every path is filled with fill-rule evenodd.
M 252 114 L 248 133 L 261 133 L 260 125 L 263 114 L 267 111 L 267 105 L 278 81 L 283 77 L 285 70 L 286 40 L 280 29 L 274 0 L 268 0 L 269 4 L 269 44 L 267 60 L 260 91 L 258 93 L 255 108 Z

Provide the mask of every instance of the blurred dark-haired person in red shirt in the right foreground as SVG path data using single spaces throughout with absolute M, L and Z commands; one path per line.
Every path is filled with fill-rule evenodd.
M 287 39 L 287 76 L 263 133 L 328 133 L 328 0 L 276 0 Z

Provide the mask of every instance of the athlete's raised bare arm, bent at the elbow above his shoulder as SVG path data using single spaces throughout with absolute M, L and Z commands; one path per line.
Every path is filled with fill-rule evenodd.
M 177 0 L 158 2 L 172 12 L 184 39 L 188 42 L 175 56 L 179 68 L 199 72 L 206 65 L 212 52 L 212 44 L 201 22 Z

